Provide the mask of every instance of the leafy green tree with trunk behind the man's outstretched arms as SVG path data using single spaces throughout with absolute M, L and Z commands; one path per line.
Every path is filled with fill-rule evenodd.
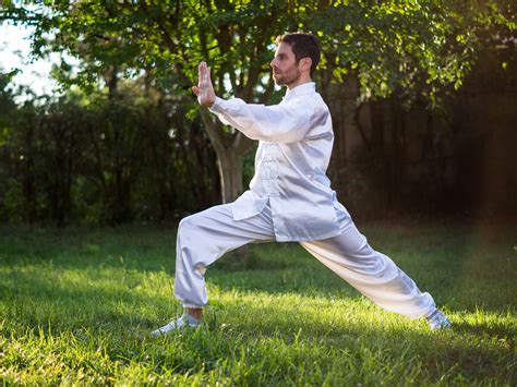
M 36 53 L 68 51 L 82 60 L 72 76 L 70 65 L 61 63 L 57 75 L 64 84 L 92 88 L 100 73 L 110 72 L 106 83 L 113 86 L 119 76 L 144 71 L 165 93 L 191 102 L 189 89 L 201 60 L 217 75 L 219 95 L 278 100 L 267 65 L 274 37 L 303 28 L 322 40 L 324 88 L 342 77 L 352 85 L 342 111 L 350 122 L 361 101 L 375 98 L 397 96 L 406 104 L 424 98 L 440 105 L 445 93 L 461 86 L 483 34 L 494 25 L 515 29 L 513 13 L 503 12 L 503 5 L 510 7 L 492 0 L 95 0 L 33 10 L 11 4 L 2 17 L 36 27 Z M 340 104 L 336 92 L 326 95 Z M 223 201 L 229 202 L 242 191 L 242 157 L 252 143 L 207 111 L 201 110 L 201 117 L 218 157 Z M 360 131 L 357 122 L 351 124 Z

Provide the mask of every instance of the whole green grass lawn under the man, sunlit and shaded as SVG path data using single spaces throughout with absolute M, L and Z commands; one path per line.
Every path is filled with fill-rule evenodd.
M 517 384 L 517 229 L 371 225 L 371 244 L 454 328 L 384 312 L 297 244 L 231 253 L 206 277 L 205 325 L 180 314 L 175 229 L 0 228 L 0 379 L 15 384 Z

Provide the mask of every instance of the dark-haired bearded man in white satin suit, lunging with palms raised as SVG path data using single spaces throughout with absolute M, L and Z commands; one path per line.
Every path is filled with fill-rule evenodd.
M 326 169 L 334 141 L 330 113 L 312 82 L 320 61 L 316 38 L 294 33 L 277 38 L 270 62 L 287 93 L 279 105 L 218 98 L 205 62 L 199 66 L 199 102 L 226 124 L 258 141 L 250 190 L 235 203 L 181 220 L 178 228 L 176 297 L 184 314 L 152 332 L 195 327 L 207 304 L 204 274 L 226 252 L 257 241 L 298 241 L 325 266 L 381 307 L 410 318 L 425 317 L 432 329 L 448 319 L 433 298 L 386 255 L 374 251 L 338 203 Z

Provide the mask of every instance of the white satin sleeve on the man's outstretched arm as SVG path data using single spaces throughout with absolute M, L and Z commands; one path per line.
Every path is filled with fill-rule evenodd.
M 303 140 L 310 129 L 314 109 L 294 100 L 273 106 L 247 104 L 242 99 L 221 99 L 211 111 L 219 120 L 252 140 L 269 143 L 293 143 Z

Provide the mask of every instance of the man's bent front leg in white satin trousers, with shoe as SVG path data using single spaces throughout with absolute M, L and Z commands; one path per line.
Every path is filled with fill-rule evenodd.
M 231 204 L 215 206 L 182 219 L 178 227 L 175 278 L 175 295 L 187 312 L 182 324 L 194 324 L 203 316 L 203 307 L 208 302 L 204 275 L 211 264 L 226 252 L 247 243 L 274 239 L 268 206 L 261 214 L 238 221 L 233 220 Z M 177 323 L 166 327 L 153 335 L 173 330 Z

